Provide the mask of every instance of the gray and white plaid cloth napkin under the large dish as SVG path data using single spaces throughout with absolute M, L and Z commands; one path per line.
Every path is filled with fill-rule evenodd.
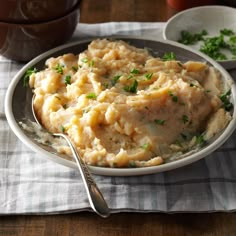
M 111 34 L 162 37 L 164 23 L 78 24 L 72 40 Z M 23 64 L 0 57 L 0 214 L 90 210 L 80 174 L 42 158 L 10 130 L 4 114 L 9 82 Z M 236 73 L 233 75 L 236 78 Z M 94 176 L 112 212 L 213 212 L 236 209 L 236 133 L 212 155 L 173 171 Z

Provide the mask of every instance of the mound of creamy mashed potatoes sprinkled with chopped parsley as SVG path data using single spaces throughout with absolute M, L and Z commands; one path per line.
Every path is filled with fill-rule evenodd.
M 219 98 L 220 74 L 202 62 L 164 61 L 123 41 L 97 39 L 46 66 L 29 81 L 37 116 L 50 132 L 68 134 L 90 165 L 159 165 L 231 119 Z

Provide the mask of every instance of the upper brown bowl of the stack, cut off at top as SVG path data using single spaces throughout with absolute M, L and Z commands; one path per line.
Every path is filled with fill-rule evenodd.
M 62 17 L 79 0 L 0 0 L 0 21 L 37 23 Z

